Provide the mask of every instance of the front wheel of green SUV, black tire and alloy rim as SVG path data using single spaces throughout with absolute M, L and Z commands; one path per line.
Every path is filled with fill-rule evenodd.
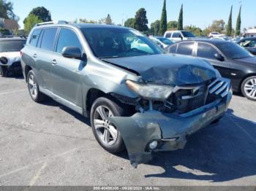
M 91 128 L 99 145 L 111 153 L 122 152 L 125 148 L 121 133 L 108 117 L 124 116 L 124 107 L 108 98 L 97 98 L 91 106 Z

